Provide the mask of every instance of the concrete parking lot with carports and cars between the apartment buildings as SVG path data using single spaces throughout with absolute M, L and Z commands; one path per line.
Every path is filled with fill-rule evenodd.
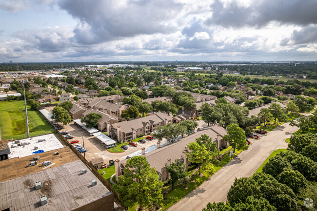
M 142 147 L 150 147 L 152 145 L 156 145 L 157 139 L 154 138 L 153 140 L 146 140 L 146 143 L 140 143 L 138 142 L 138 146 L 134 147 L 131 145 L 128 145 L 127 150 L 124 150 L 122 153 L 110 153 L 106 149 L 106 145 L 102 143 L 98 138 L 95 136 L 90 136 L 90 134 L 81 128 L 78 125 L 75 125 L 74 123 L 70 123 L 68 125 L 64 125 L 63 129 L 59 130 L 62 131 L 68 131 L 68 133 L 72 134 L 74 138 L 68 139 L 67 141 L 70 143 L 73 140 L 79 140 L 79 143 L 82 146 L 84 145 L 85 148 L 88 150 L 88 152 L 85 153 L 86 160 L 90 161 L 94 158 L 102 157 L 105 164 L 109 164 L 109 160 L 115 160 L 115 159 L 122 159 L 122 157 L 135 153 L 139 150 L 141 150 Z M 84 143 L 83 143 L 84 142 Z M 162 144 L 162 143 L 161 143 Z

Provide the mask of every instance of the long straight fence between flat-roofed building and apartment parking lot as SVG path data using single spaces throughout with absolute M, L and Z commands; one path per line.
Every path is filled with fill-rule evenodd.
M 39 112 L 40 113 L 40 112 Z M 42 115 L 42 113 L 40 113 Z M 44 115 L 42 115 L 45 119 L 46 117 Z M 59 134 L 59 136 L 62 138 L 62 140 L 64 141 L 64 143 L 66 144 L 66 146 L 69 146 L 70 149 L 72 149 L 72 151 L 79 157 L 79 159 L 90 169 L 90 171 L 92 171 L 92 173 L 95 174 L 95 176 L 100 180 L 100 182 L 107 187 L 107 189 L 111 192 L 113 192 L 114 196 L 119 200 L 119 194 L 118 192 L 113 191 L 111 184 L 105 179 L 103 178 L 103 176 L 86 160 L 84 159 L 84 156 L 79 153 L 75 147 L 71 144 L 68 144 L 67 139 L 59 132 L 59 130 L 57 130 L 55 128 L 55 126 L 48 120 L 46 119 L 46 121 L 48 122 L 48 124 L 50 124 L 54 130 Z

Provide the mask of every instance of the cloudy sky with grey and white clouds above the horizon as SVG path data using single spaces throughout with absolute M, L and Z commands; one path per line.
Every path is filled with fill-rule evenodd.
M 0 62 L 317 60 L 317 0 L 0 0 Z

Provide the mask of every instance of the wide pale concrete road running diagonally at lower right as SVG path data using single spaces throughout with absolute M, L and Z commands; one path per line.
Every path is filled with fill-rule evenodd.
M 168 210 L 201 211 L 208 202 L 227 201 L 227 192 L 235 177 L 250 177 L 274 150 L 285 149 L 287 147 L 285 139 L 297 130 L 297 127 L 285 123 L 268 134 L 262 135 L 260 139 L 251 140 L 252 145 L 247 151 L 238 154 L 231 162 Z

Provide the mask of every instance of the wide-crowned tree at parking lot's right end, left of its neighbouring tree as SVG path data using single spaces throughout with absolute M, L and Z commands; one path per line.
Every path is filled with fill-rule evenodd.
M 159 126 L 154 137 L 158 138 L 158 141 L 161 141 L 163 138 L 166 138 L 167 141 L 171 144 L 174 143 L 176 138 L 179 135 L 186 133 L 186 127 L 181 124 L 167 124 L 165 126 Z

